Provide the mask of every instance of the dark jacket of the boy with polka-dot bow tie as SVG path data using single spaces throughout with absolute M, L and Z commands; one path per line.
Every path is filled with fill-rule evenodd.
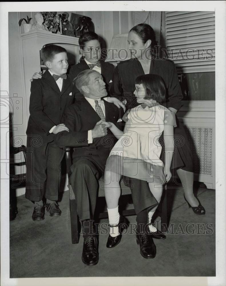
M 110 89 L 112 86 L 112 80 L 113 80 L 113 74 L 114 74 L 114 65 L 111 63 L 105 63 L 105 61 L 100 60 L 101 64 L 101 75 L 103 76 L 103 80 L 106 84 L 106 90 L 108 95 L 110 96 Z M 71 66 L 69 69 L 69 78 L 71 81 L 74 80 L 74 78 L 77 77 L 77 75 L 84 71 L 85 69 L 89 69 L 89 66 L 85 62 L 85 60 L 82 58 L 79 63 L 76 65 Z M 79 90 L 75 87 L 75 97 L 82 96 Z

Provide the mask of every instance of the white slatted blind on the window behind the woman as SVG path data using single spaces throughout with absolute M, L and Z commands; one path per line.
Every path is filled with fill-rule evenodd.
M 215 12 L 165 12 L 165 39 L 177 72 L 215 72 Z

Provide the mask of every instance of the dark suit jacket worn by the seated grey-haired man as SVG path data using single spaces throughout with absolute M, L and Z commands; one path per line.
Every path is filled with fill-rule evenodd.
M 113 122 L 121 129 L 122 126 L 120 126 L 117 121 L 121 118 L 123 110 L 105 100 L 104 104 L 106 121 Z M 72 104 L 65 110 L 63 115 L 63 122 L 69 128 L 70 132 L 63 131 L 57 133 L 55 135 L 55 143 L 57 146 L 72 147 L 78 146 L 78 144 L 81 143 L 81 147 L 74 148 L 73 159 L 76 160 L 78 157 L 85 156 L 103 168 L 110 150 L 117 142 L 117 139 L 112 132 L 107 129 L 107 136 L 94 138 L 93 143 L 88 144 L 88 130 L 93 129 L 100 120 L 101 118 L 84 96 L 79 97 L 76 99 L 75 104 Z

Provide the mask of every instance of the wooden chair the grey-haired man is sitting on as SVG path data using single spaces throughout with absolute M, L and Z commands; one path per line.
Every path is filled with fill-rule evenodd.
M 68 174 L 68 188 L 69 188 L 69 202 L 70 202 L 70 218 L 71 218 L 71 241 L 72 243 L 79 243 L 79 219 L 77 215 L 77 204 L 76 204 L 76 199 L 75 195 L 70 183 L 70 176 L 71 176 L 71 152 L 70 152 L 70 147 L 65 147 L 65 158 L 66 158 L 66 165 L 67 165 L 67 174 Z M 101 186 L 103 183 L 103 178 L 99 180 L 99 191 L 98 191 L 98 197 L 104 197 L 104 189 Z M 131 190 L 128 186 L 124 184 L 123 181 L 120 182 L 121 185 L 121 194 L 122 195 L 129 195 L 131 194 Z M 161 230 L 165 232 L 168 223 L 167 223 L 167 196 L 166 196 L 166 185 L 163 190 L 163 195 L 162 199 L 160 202 L 160 207 L 161 210 L 157 211 L 157 215 L 161 217 Z M 128 215 L 135 215 L 135 210 L 130 209 L 130 210 L 123 210 L 122 215 L 123 216 L 128 216 Z M 101 218 L 107 218 L 108 214 L 107 212 L 101 212 L 98 214 L 99 219 Z

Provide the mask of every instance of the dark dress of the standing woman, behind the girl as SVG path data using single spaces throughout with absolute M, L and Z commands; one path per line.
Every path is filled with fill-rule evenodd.
M 166 99 L 165 104 L 161 104 L 167 108 L 172 107 L 179 110 L 183 96 L 173 61 L 153 58 L 151 59 L 149 73 L 161 76 L 165 83 Z M 135 90 L 135 79 L 141 75 L 144 75 L 144 71 L 141 63 L 137 59 L 122 61 L 115 68 L 111 96 L 121 100 L 122 98 L 126 99 L 128 102 L 127 109 L 138 105 L 133 92 Z M 171 168 L 181 168 L 193 172 L 192 152 L 188 144 L 188 138 L 183 125 L 177 118 L 176 120 L 177 127 L 174 131 L 175 154 Z

